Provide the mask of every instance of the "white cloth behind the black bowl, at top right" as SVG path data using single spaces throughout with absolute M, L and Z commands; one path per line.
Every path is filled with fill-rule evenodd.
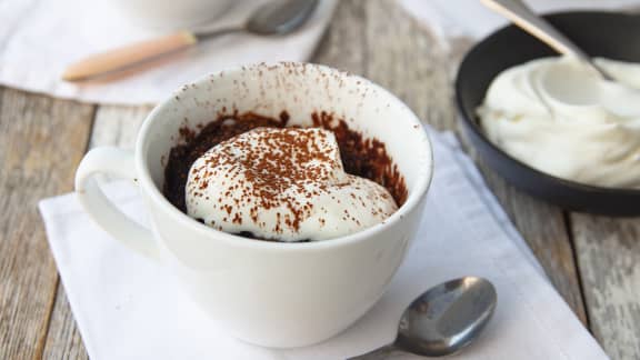
M 539 13 L 563 10 L 639 11 L 639 0 L 523 0 Z M 508 21 L 479 0 L 400 0 L 402 6 L 430 27 L 440 40 L 480 39 Z

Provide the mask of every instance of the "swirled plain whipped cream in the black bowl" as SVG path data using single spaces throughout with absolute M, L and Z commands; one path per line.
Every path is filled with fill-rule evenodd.
M 640 188 L 640 64 L 597 63 L 617 81 L 570 58 L 538 59 L 501 72 L 478 109 L 488 138 L 559 178 Z

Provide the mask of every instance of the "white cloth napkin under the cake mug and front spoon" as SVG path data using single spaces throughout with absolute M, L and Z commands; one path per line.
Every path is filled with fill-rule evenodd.
M 392 341 L 403 309 L 429 287 L 474 274 L 496 284 L 498 307 L 481 338 L 451 359 L 607 359 L 544 278 L 456 138 L 434 131 L 431 136 L 437 170 L 428 206 L 389 290 L 350 329 L 307 348 L 264 349 L 230 338 L 178 291 L 164 268 L 100 230 L 73 194 L 43 200 L 40 211 L 51 250 L 89 356 L 344 359 Z M 141 201 L 129 184 L 112 183 L 107 192 L 144 221 Z

